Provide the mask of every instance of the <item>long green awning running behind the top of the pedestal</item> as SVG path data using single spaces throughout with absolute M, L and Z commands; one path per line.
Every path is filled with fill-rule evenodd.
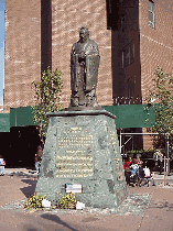
M 147 105 L 121 105 L 121 106 L 102 106 L 102 108 L 117 118 L 115 119 L 117 129 L 122 128 L 145 128 L 154 123 L 154 109 L 150 108 L 150 116 L 145 112 Z M 10 109 L 10 127 L 35 125 L 33 122 L 31 107 L 21 107 Z M 145 124 L 149 118 L 150 123 Z

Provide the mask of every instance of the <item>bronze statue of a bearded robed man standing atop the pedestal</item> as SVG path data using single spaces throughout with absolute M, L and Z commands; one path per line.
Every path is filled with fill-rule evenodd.
M 79 41 L 71 52 L 71 108 L 97 108 L 96 86 L 99 67 L 99 51 L 96 42 L 89 38 L 89 31 L 83 26 Z

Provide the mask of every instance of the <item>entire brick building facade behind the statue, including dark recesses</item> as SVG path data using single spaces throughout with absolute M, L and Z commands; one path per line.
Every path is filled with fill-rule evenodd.
M 156 66 L 172 73 L 172 20 L 169 0 L 7 0 L 3 112 L 34 103 L 32 81 L 47 66 L 62 72 L 68 107 L 69 54 L 82 25 L 99 46 L 98 103 L 142 103 Z

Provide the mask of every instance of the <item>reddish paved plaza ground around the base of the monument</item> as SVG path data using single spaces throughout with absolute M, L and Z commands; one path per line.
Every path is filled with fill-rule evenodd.
M 154 174 L 156 186 L 128 186 L 128 198 L 117 209 L 26 211 L 23 202 L 36 186 L 37 176 L 29 169 L 6 169 L 0 176 L 0 230 L 10 231 L 172 231 L 173 176 L 163 184 Z M 167 184 L 167 185 L 166 185 Z

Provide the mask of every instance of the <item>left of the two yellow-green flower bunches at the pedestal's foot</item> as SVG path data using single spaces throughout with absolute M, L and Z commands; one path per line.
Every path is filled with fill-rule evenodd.
M 36 193 L 28 198 L 24 204 L 25 209 L 39 209 L 42 207 L 42 200 L 45 199 L 46 196 L 37 196 Z

